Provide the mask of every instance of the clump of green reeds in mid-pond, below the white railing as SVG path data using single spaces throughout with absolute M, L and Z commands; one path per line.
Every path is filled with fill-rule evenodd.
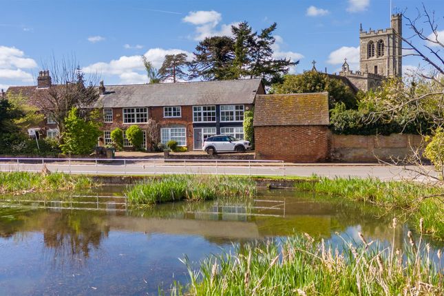
M 180 200 L 213 200 L 253 196 L 255 182 L 227 176 L 178 175 L 151 178 L 130 187 L 125 195 L 131 204 L 157 204 Z

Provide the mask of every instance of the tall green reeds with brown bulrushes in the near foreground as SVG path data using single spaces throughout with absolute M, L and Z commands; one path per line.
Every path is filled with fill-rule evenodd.
M 207 257 L 199 271 L 185 257 L 189 284 L 176 283 L 171 295 L 443 295 L 441 265 L 432 262 L 442 251 L 422 235 L 416 243 L 409 232 L 402 250 L 394 240 L 384 247 L 359 237 L 343 239 L 340 249 L 308 234 L 246 244 Z

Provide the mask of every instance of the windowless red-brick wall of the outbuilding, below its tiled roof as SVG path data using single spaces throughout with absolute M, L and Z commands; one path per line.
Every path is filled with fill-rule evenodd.
M 319 162 L 328 157 L 326 125 L 255 127 L 256 159 Z

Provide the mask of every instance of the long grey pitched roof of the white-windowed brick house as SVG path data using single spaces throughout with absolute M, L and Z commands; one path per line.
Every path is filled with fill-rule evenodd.
M 101 107 L 252 104 L 261 79 L 105 85 Z

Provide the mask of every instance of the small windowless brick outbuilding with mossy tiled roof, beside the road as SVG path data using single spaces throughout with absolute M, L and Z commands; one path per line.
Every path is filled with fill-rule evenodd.
M 319 162 L 328 156 L 328 93 L 266 94 L 255 100 L 257 159 Z

